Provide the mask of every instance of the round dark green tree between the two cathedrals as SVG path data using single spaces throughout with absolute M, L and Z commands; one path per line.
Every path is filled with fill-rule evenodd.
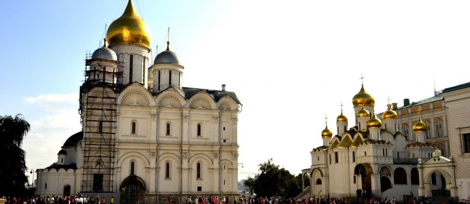
M 244 184 L 257 196 L 293 197 L 301 190 L 296 177 L 269 159 L 259 166 L 260 174 L 248 177 Z M 301 184 L 300 184 L 301 185 Z

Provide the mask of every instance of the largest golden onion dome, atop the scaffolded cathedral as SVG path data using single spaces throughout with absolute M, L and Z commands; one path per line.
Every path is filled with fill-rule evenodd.
M 134 10 L 132 0 L 127 3 L 121 17 L 114 20 L 108 28 L 106 37 L 109 45 L 137 44 L 150 50 L 150 28 Z

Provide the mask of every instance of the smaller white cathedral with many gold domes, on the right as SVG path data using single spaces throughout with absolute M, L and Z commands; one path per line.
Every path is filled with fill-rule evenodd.
M 302 184 L 304 197 L 327 199 L 360 194 L 402 200 L 410 192 L 418 195 L 420 188 L 435 190 L 448 183 L 441 181 L 441 174 L 436 172 L 438 181 L 433 179 L 427 187 L 420 187 L 420 162 L 436 158 L 443 146 L 426 140 L 428 125 L 419 116 L 412 127 L 416 139 L 409 140 L 401 132 L 392 105 L 388 104 L 382 114 L 375 113 L 375 99 L 364 85 L 353 96 L 352 105 L 354 117 L 348 119 L 341 109 L 336 117 L 336 135 L 326 126 L 321 132 L 323 145 L 310 152 L 311 166 L 302 170 L 302 176 L 309 176 L 311 184 L 307 188 Z M 351 119 L 354 124 L 348 125 Z

